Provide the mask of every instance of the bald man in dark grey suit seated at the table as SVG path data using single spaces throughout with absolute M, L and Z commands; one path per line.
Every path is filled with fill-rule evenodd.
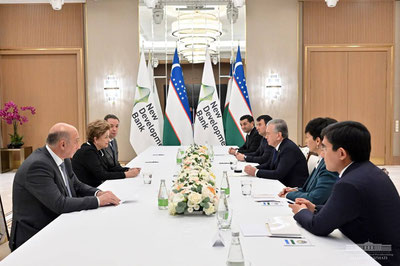
M 10 248 L 15 250 L 62 213 L 118 205 L 110 191 L 81 183 L 70 158 L 79 148 L 75 127 L 58 123 L 46 146 L 35 150 L 20 166 L 13 184 L 13 221 Z

